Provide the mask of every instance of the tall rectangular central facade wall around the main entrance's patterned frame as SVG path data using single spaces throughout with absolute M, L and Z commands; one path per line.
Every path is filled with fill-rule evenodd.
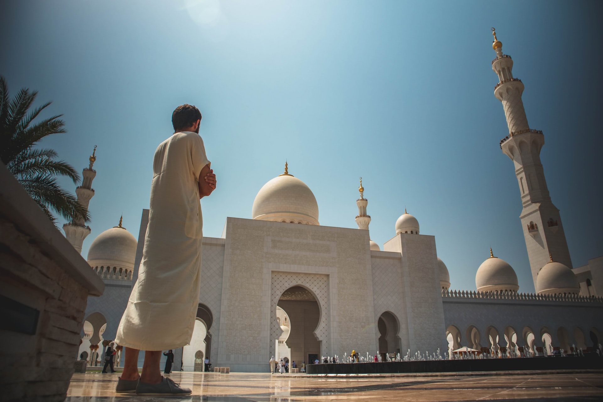
M 296 283 L 302 286 L 304 280 L 308 287 L 327 286 L 321 306 L 328 316 L 322 354 L 372 353 L 376 339 L 374 330 L 367 331 L 374 325 L 368 231 L 228 218 L 224 253 L 218 365 L 233 371 L 268 370 L 274 354 L 275 271 L 307 275 Z M 311 283 L 323 276 L 326 285 Z

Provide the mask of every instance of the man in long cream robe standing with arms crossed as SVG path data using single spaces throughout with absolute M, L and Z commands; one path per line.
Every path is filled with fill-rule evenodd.
M 147 234 L 138 280 L 119 322 L 115 342 L 125 348 L 117 392 L 189 395 L 161 375 L 163 350 L 190 344 L 201 286 L 203 215 L 200 198 L 216 179 L 199 136 L 201 112 L 185 104 L 172 113 L 174 134 L 160 143 L 153 159 Z M 137 362 L 145 351 L 142 374 Z

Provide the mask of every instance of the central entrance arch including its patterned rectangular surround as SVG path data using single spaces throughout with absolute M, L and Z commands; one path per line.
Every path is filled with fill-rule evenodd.
M 295 328 L 299 331 L 303 330 L 303 342 L 308 341 L 308 347 L 301 348 L 299 344 L 295 347 L 293 345 L 295 334 L 292 332 L 289 335 L 287 344 L 291 348 L 291 359 L 308 363 L 308 354 L 327 356 L 330 353 L 329 275 L 272 271 L 270 294 L 270 355 L 276 356 L 276 341 L 283 333 L 277 320 L 276 310 L 279 306 L 289 315 L 291 330 L 295 331 Z M 295 300 L 295 298 L 308 300 Z M 308 304 L 307 308 L 303 307 L 302 303 Z M 298 307 L 295 307 L 296 304 Z M 303 320 L 305 321 L 308 315 L 308 323 L 297 322 L 301 315 L 294 310 L 301 307 L 307 310 L 303 313 Z M 308 330 L 312 325 L 315 327 Z M 311 348 L 317 348 L 317 353 L 310 353 Z

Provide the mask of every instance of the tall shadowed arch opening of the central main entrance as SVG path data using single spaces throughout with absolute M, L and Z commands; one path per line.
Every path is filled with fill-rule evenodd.
M 279 325 L 279 341 L 285 331 L 282 327 L 289 328 L 285 347 L 290 350 L 290 359 L 293 362 L 305 362 L 306 364 L 310 359 L 317 357 L 320 359 L 321 344 L 314 333 L 317 331 L 321 317 L 320 307 L 314 294 L 303 286 L 289 287 L 280 295 L 277 307 L 285 312 L 283 317 L 289 321 L 289 324 L 286 325 L 285 318 L 281 317 L 280 321 L 277 320 L 277 324 Z M 275 357 L 278 359 L 279 353 L 277 350 L 275 352 Z

